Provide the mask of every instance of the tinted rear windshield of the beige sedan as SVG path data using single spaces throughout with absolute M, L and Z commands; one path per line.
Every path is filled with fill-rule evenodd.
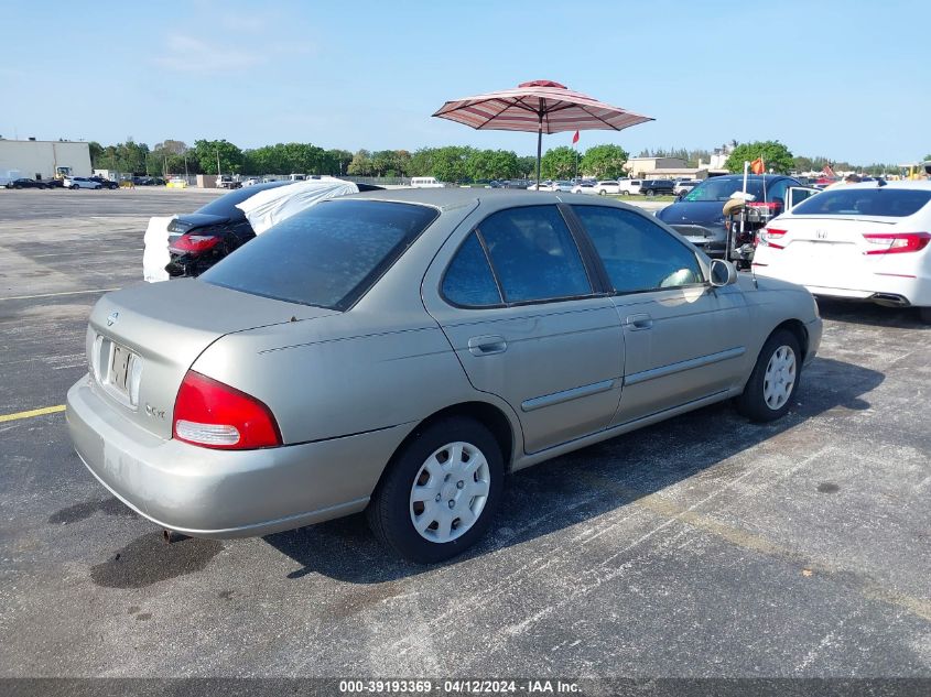
M 252 295 L 347 309 L 439 215 L 410 204 L 324 202 L 279 222 L 199 277 Z

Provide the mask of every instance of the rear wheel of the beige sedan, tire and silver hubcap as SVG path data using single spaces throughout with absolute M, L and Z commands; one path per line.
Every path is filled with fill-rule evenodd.
M 501 450 L 488 428 L 465 417 L 434 422 L 414 432 L 392 458 L 366 510 L 369 526 L 405 559 L 443 562 L 485 534 L 504 475 Z

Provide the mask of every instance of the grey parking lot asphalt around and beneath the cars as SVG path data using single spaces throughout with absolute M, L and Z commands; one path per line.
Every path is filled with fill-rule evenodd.
M 148 217 L 215 193 L 0 190 L 0 677 L 931 677 L 931 331 L 822 304 L 789 415 L 721 404 L 518 472 L 452 563 L 353 516 L 163 542 L 61 411 Z

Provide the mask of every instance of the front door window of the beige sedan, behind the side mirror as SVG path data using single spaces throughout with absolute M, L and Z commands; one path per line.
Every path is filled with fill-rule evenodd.
M 645 216 L 605 206 L 572 207 L 618 293 L 703 283 L 695 254 Z

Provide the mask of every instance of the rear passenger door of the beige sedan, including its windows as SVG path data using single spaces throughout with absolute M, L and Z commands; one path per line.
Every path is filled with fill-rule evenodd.
M 607 427 L 624 339 L 557 206 L 492 213 L 447 242 L 424 286 L 473 386 L 518 414 L 527 453 Z

